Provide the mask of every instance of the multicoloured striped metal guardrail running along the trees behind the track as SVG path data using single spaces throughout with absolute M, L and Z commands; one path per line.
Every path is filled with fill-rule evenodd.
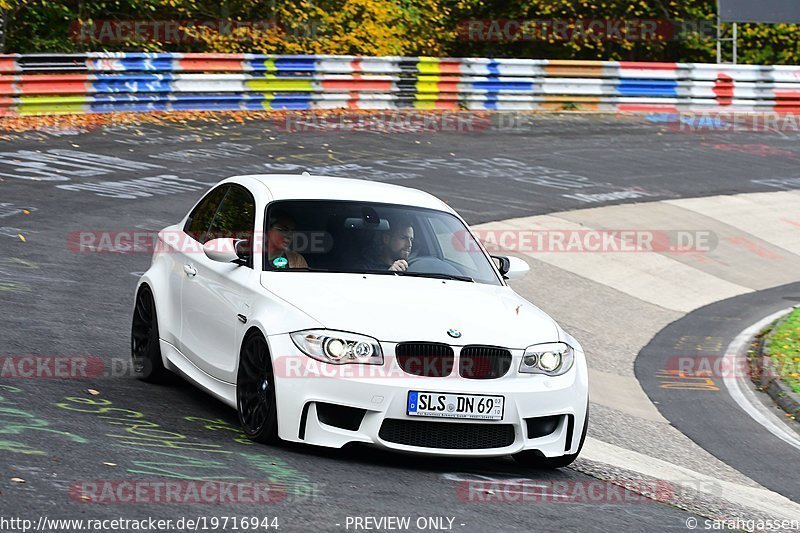
M 539 59 L 0 56 L 0 115 L 302 109 L 800 112 L 800 67 Z

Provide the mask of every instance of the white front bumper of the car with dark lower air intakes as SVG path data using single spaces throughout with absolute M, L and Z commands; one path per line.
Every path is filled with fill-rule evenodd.
M 558 457 L 578 450 L 588 406 L 586 360 L 580 351 L 576 350 L 575 364 L 563 376 L 520 374 L 517 369 L 522 352 L 512 351 L 511 369 L 505 376 L 480 380 L 462 378 L 457 372 L 448 377 L 406 374 L 391 355 L 391 343 L 382 343 L 383 366 L 370 367 L 321 363 L 300 352 L 289 335 L 270 336 L 268 342 L 275 374 L 278 431 L 284 440 L 333 448 L 361 442 L 404 452 L 473 457 L 522 450 Z M 407 395 L 412 390 L 502 395 L 503 418 L 477 421 L 408 416 Z M 337 406 L 352 408 L 339 409 L 353 415 L 346 417 L 348 423 L 330 422 L 330 413 Z M 550 427 L 554 429 L 531 437 L 528 420 L 544 417 L 553 422 L 548 431 Z M 490 425 L 503 427 L 489 428 Z M 432 438 L 434 434 L 441 434 L 442 438 Z M 486 434 L 487 438 L 463 438 L 477 434 Z M 498 439 L 499 434 L 503 438 Z

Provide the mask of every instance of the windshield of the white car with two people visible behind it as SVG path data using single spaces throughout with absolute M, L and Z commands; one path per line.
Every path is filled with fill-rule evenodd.
M 267 207 L 264 269 L 431 277 L 500 285 L 464 224 L 443 211 L 349 201 Z

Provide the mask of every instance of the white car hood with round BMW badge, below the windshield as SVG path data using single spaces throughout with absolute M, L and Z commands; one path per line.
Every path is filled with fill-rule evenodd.
M 328 329 L 383 342 L 519 349 L 560 340 L 560 330 L 550 316 L 504 286 L 322 272 L 264 272 L 261 284 Z M 461 337 L 450 337 L 451 328 L 461 332 Z

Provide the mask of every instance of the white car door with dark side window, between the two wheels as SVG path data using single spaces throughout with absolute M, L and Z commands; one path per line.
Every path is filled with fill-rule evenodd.
M 214 238 L 252 239 L 255 199 L 245 187 L 229 184 L 199 242 Z M 187 258 L 181 289 L 181 351 L 198 368 L 233 383 L 247 313 L 247 288 L 258 283 L 252 257 L 247 265 L 209 259 L 202 250 Z

